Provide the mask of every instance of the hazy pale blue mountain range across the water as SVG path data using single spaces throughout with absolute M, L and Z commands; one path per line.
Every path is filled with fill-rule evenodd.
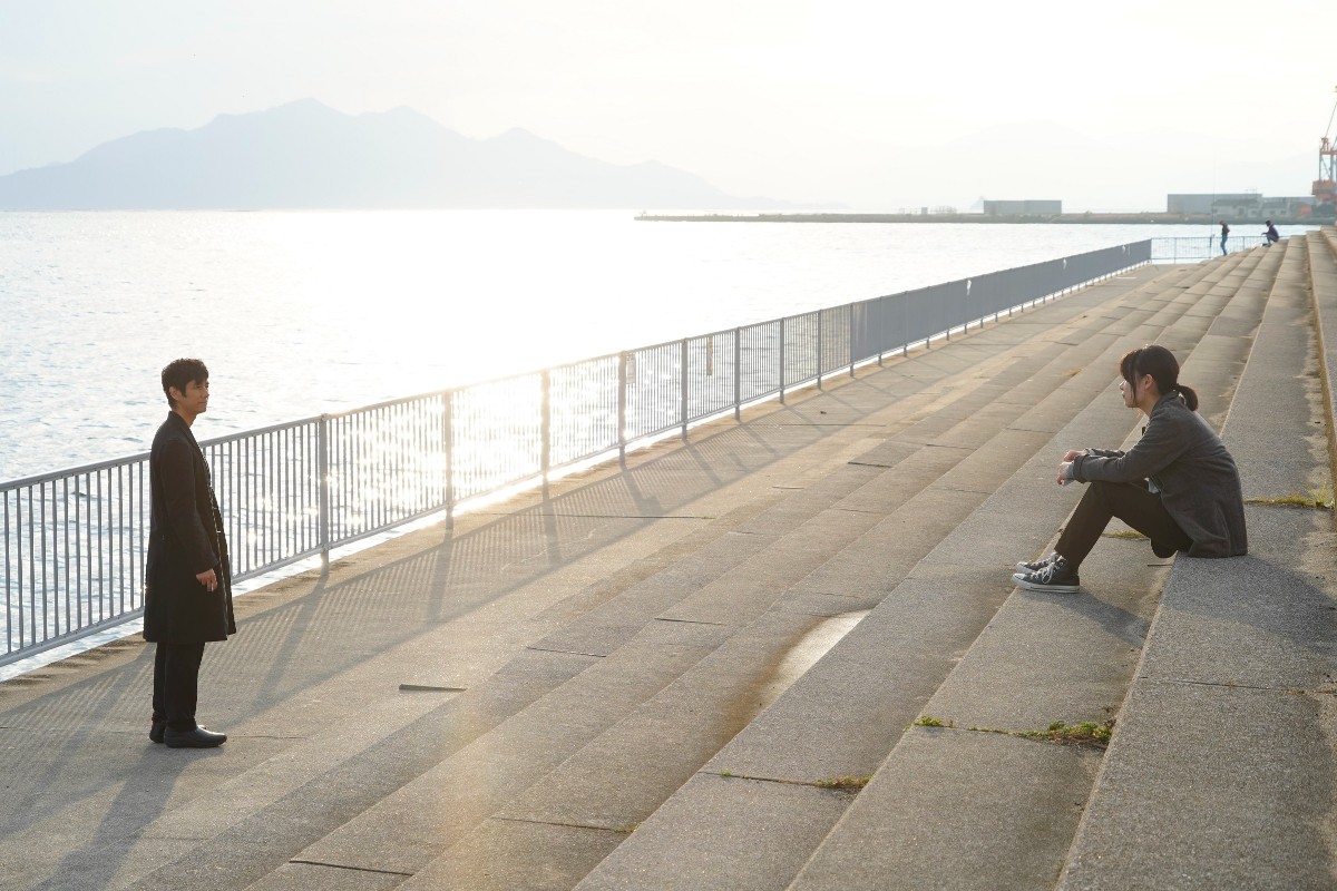
M 656 162 L 599 162 L 524 130 L 469 139 L 410 108 L 345 115 L 314 99 L 0 176 L 4 210 L 785 206 Z

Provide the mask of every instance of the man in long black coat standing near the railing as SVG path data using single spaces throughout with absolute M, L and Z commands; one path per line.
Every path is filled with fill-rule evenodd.
M 144 568 L 144 640 L 156 643 L 154 715 L 148 739 L 171 748 L 227 741 L 195 721 L 205 644 L 237 633 L 233 576 L 223 517 L 190 431 L 209 409 L 209 369 L 176 359 L 162 373 L 171 411 L 148 456 L 148 560 Z

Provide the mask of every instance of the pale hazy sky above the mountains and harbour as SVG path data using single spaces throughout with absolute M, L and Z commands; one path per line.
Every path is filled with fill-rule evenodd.
M 1334 0 L 0 0 L 0 174 L 314 98 L 857 210 L 1305 195 L 1334 39 Z

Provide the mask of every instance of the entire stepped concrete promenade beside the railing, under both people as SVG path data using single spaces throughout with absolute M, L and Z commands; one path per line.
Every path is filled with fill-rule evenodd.
M 1332 228 L 1147 266 L 271 585 L 219 749 L 134 639 L 0 683 L 0 888 L 1337 887 L 1334 326 Z M 1250 554 L 1015 589 L 1147 342 Z

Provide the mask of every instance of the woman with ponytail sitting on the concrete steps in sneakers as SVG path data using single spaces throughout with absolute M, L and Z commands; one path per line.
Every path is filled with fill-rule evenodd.
M 1151 540 L 1158 557 L 1238 557 L 1249 550 L 1239 470 L 1207 422 L 1198 394 L 1179 383 L 1179 363 L 1163 346 L 1144 346 L 1119 361 L 1123 403 L 1147 415 L 1127 453 L 1068 452 L 1059 485 L 1088 482 L 1052 554 L 1019 562 L 1019 588 L 1075 592 L 1078 568 L 1118 517 Z

